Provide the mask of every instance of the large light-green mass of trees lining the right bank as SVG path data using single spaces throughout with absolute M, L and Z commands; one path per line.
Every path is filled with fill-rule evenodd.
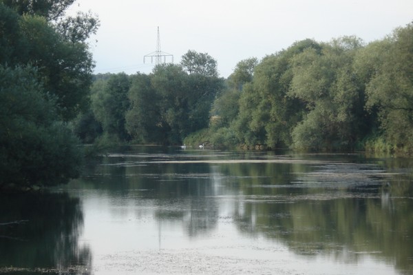
M 408 24 L 368 45 L 306 39 L 256 65 L 241 61 L 205 136 L 214 145 L 412 154 L 412 49 Z

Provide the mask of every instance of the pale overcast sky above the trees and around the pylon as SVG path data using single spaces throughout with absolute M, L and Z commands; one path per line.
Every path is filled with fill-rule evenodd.
M 68 14 L 77 11 L 100 19 L 89 39 L 96 74 L 149 74 L 154 64 L 143 57 L 156 50 L 158 27 L 174 63 L 188 50 L 207 53 L 229 77 L 238 62 L 296 41 L 354 35 L 369 43 L 413 21 L 412 0 L 77 0 Z

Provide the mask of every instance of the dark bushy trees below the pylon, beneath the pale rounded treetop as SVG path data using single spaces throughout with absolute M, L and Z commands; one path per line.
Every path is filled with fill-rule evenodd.
M 209 112 L 222 79 L 187 74 L 180 65 L 158 65 L 149 76 L 133 76 L 127 129 L 144 143 L 181 143 L 207 128 Z

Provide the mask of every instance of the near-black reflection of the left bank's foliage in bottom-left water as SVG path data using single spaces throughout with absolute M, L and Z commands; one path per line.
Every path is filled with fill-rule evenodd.
M 0 221 L 21 220 L 28 222 L 0 227 L 0 269 L 89 274 L 92 253 L 78 240 L 83 228 L 78 198 L 52 193 L 1 195 Z

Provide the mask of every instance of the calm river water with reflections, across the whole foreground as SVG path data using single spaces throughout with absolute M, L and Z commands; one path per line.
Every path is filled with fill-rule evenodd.
M 0 274 L 412 274 L 413 159 L 129 147 L 1 196 Z

